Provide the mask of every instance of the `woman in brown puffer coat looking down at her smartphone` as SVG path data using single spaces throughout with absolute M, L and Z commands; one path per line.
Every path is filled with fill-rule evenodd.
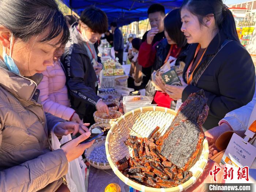
M 93 141 L 86 125 L 44 113 L 37 102 L 42 72 L 69 38 L 54 0 L 0 0 L 0 191 L 68 191 L 68 162 Z M 49 135 L 81 133 L 50 150 Z

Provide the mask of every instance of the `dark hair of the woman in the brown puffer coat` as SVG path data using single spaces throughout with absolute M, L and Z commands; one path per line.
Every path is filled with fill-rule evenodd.
M 55 0 L 0 0 L 0 4 L 0 25 L 9 29 L 14 37 L 28 41 L 50 29 L 40 42 L 48 42 L 62 32 L 58 44 L 68 41 L 68 26 Z

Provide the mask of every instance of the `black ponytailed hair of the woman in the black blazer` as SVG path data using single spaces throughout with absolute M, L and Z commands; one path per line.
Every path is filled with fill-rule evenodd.
M 233 14 L 222 0 L 184 0 L 182 8 L 197 16 L 200 25 L 204 25 L 205 16 L 213 14 L 218 29 L 222 30 L 228 39 L 240 42 Z

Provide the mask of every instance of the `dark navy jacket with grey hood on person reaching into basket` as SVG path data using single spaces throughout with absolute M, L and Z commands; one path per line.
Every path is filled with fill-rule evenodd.
M 67 75 L 71 107 L 80 117 L 83 117 L 88 105 L 95 106 L 100 97 L 95 92 L 97 75 L 79 31 L 76 29 L 77 25 L 78 23 L 74 23 L 71 26 L 70 39 L 65 46 L 65 53 L 61 57 L 61 61 Z

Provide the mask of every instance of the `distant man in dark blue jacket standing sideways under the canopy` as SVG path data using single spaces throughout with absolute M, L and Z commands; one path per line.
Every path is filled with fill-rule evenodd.
M 112 33 L 114 34 L 114 50 L 115 50 L 115 56 L 119 59 L 119 63 L 123 65 L 123 53 L 124 53 L 124 38 L 123 34 L 118 29 L 116 22 L 110 23 L 110 27 L 112 30 Z

